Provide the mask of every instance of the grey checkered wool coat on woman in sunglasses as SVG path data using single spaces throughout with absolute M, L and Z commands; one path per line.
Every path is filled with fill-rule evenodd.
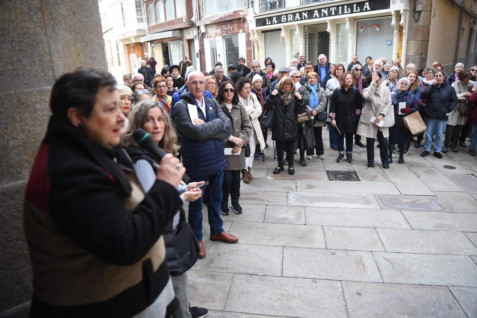
M 232 110 L 229 112 L 227 106 L 224 102 L 220 103 L 220 108 L 224 112 L 225 116 L 230 119 L 231 126 L 231 136 L 242 139 L 244 148 L 239 155 L 226 155 L 225 160 L 227 161 L 227 170 L 242 170 L 246 169 L 245 166 L 245 146 L 250 141 L 250 134 L 252 133 L 252 122 L 250 121 L 249 115 L 245 109 L 240 105 L 236 104 L 232 106 Z M 228 141 L 228 138 L 224 138 L 224 148 L 233 148 L 235 144 L 231 141 Z

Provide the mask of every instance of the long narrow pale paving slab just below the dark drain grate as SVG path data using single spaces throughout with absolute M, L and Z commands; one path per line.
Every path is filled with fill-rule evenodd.
M 400 194 L 391 182 L 297 180 L 298 192 Z

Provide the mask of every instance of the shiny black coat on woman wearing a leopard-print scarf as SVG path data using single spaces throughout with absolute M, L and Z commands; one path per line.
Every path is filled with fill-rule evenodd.
M 305 112 L 303 99 L 291 96 L 290 104 L 285 106 L 281 94 L 270 94 L 265 101 L 265 109 L 271 111 L 275 107 L 275 126 L 271 130 L 272 140 L 293 140 L 298 138 L 298 114 Z

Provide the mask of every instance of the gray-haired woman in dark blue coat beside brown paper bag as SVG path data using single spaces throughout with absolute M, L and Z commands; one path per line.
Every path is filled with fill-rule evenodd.
M 395 66 L 394 66 L 395 67 Z M 397 67 L 396 67 L 397 69 Z M 411 81 L 403 77 L 398 82 L 398 91 L 391 95 L 391 103 L 394 107 L 394 126 L 389 127 L 389 163 L 393 163 L 394 145 L 399 145 L 398 163 L 404 163 L 404 151 L 408 142 L 411 142 L 411 132 L 404 125 L 404 117 L 418 111 L 417 98 L 409 93 Z M 405 103 L 402 108 L 401 103 Z

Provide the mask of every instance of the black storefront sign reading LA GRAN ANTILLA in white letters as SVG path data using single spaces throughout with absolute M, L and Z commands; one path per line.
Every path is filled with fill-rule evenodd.
M 369 0 L 356 3 L 348 3 L 342 5 L 334 5 L 326 8 L 309 9 L 306 11 L 298 11 L 293 13 L 285 13 L 274 15 L 267 18 L 259 18 L 255 21 L 257 27 L 276 25 L 286 22 L 306 21 L 318 18 L 329 18 L 344 14 L 362 13 L 369 11 L 389 9 L 389 1 Z M 379 31 L 379 30 L 378 30 Z

